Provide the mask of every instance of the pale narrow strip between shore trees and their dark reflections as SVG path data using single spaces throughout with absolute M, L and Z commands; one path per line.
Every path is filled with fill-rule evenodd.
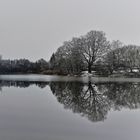
M 28 81 L 28 82 L 83 82 L 83 83 L 109 83 L 109 82 L 136 82 L 140 83 L 140 78 L 129 77 L 82 77 L 82 76 L 59 76 L 42 74 L 15 74 L 0 75 L 1 81 Z

